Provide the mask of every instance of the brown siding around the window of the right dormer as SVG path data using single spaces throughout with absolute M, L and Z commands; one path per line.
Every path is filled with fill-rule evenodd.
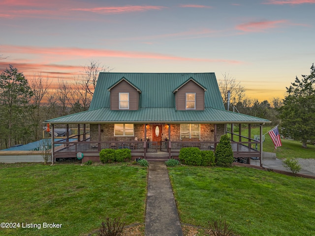
M 175 93 L 175 103 L 177 110 L 186 110 L 186 93 L 196 93 L 196 110 L 205 109 L 205 91 L 193 81 L 189 81 Z M 189 110 L 189 111 L 196 111 Z

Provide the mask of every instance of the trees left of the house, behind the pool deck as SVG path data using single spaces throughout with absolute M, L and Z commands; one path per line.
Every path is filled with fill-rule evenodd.
M 91 60 L 69 84 L 52 80 L 41 73 L 30 82 L 13 65 L 0 74 L 0 149 L 40 140 L 43 121 L 89 109 L 99 72 L 108 66 Z

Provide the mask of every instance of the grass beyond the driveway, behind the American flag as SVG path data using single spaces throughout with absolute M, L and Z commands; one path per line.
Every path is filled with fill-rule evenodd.
M 238 127 L 236 127 L 238 130 Z M 273 127 L 263 126 L 263 134 L 267 133 Z M 234 131 L 238 134 L 238 131 Z M 254 138 L 254 135 L 259 135 L 259 127 L 251 128 L 251 136 Z M 242 129 L 242 136 L 248 136 L 248 129 Z M 234 139 L 238 139 L 237 136 L 234 136 Z M 247 139 L 242 138 L 242 141 L 248 142 Z M 265 135 L 265 142 L 263 142 L 263 150 L 268 152 L 274 152 L 277 155 L 277 158 L 315 158 L 315 145 L 307 145 L 307 148 L 302 148 L 302 143 L 299 141 L 291 141 L 286 139 L 281 139 L 282 147 L 275 149 L 275 146 L 270 138 L 270 135 L 267 133 Z

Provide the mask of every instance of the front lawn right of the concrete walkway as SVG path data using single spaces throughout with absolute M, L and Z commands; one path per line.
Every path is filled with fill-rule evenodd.
M 314 179 L 245 167 L 172 167 L 182 223 L 225 219 L 241 236 L 314 236 Z

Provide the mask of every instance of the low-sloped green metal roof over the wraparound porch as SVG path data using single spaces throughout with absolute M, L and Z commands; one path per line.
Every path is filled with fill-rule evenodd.
M 64 117 L 49 119 L 44 123 L 270 123 L 270 120 L 247 116 L 220 109 L 204 111 L 176 111 L 174 108 L 141 108 L 138 111 L 111 111 L 98 108 Z

